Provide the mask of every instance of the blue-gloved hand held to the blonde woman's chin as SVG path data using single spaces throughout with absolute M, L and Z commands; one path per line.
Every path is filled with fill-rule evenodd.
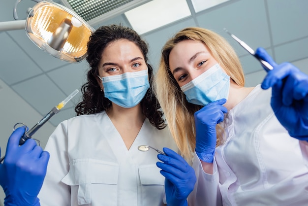
M 207 163 L 212 163 L 216 147 L 216 125 L 223 121 L 227 108 L 222 106 L 226 99 L 205 105 L 194 114 L 196 126 L 196 153 Z

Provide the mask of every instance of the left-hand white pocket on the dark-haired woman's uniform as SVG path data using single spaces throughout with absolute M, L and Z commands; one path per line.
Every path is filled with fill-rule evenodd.
M 118 164 L 84 158 L 73 160 L 69 165 L 69 172 L 63 177 L 62 182 L 71 186 L 72 202 L 77 199 L 78 205 L 91 204 L 91 197 L 97 194 L 101 200 L 102 195 L 106 195 L 108 199 L 117 198 L 111 196 L 117 196 Z M 92 189 L 93 186 L 95 190 Z

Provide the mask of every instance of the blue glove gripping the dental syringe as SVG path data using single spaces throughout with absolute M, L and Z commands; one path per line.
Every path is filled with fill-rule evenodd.
M 25 132 L 17 128 L 8 139 L 3 164 L 0 164 L 0 185 L 5 206 L 39 206 L 37 195 L 46 175 L 49 153 L 28 139 L 19 146 Z

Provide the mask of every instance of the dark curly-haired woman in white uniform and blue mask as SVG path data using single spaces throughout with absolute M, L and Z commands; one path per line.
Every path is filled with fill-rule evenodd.
M 164 181 L 157 152 L 178 151 L 152 94 L 148 46 L 133 30 L 97 29 L 88 42 L 88 82 L 77 116 L 63 121 L 46 145 L 46 206 L 161 206 Z

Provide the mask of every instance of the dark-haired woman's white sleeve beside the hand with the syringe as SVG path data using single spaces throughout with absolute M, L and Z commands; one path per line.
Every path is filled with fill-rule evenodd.
M 38 194 L 41 206 L 70 206 L 70 187 L 61 182 L 69 170 L 66 121 L 49 137 L 45 150 L 50 153 L 50 159 Z

